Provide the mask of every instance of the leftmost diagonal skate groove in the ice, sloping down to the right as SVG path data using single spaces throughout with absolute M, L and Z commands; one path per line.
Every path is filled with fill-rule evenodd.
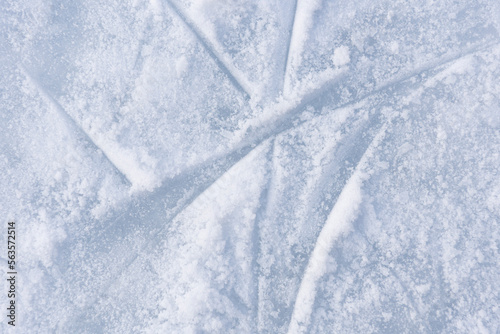
M 86 141 L 98 152 L 102 153 L 102 156 L 109 164 L 116 170 L 116 172 L 120 175 L 122 180 L 129 186 L 132 185 L 132 182 L 129 180 L 127 175 L 114 163 L 106 151 L 99 145 L 97 145 L 96 141 L 92 139 L 92 137 L 75 121 L 71 115 L 66 112 L 66 110 L 52 97 L 52 95 L 40 84 L 40 82 L 32 76 L 29 71 L 22 64 L 18 64 L 18 68 L 25 75 L 28 81 L 38 90 L 40 95 L 46 100 L 46 102 L 51 105 L 54 110 L 59 114 L 59 116 L 66 121 L 68 127 L 74 129 L 74 133 L 81 133 Z

